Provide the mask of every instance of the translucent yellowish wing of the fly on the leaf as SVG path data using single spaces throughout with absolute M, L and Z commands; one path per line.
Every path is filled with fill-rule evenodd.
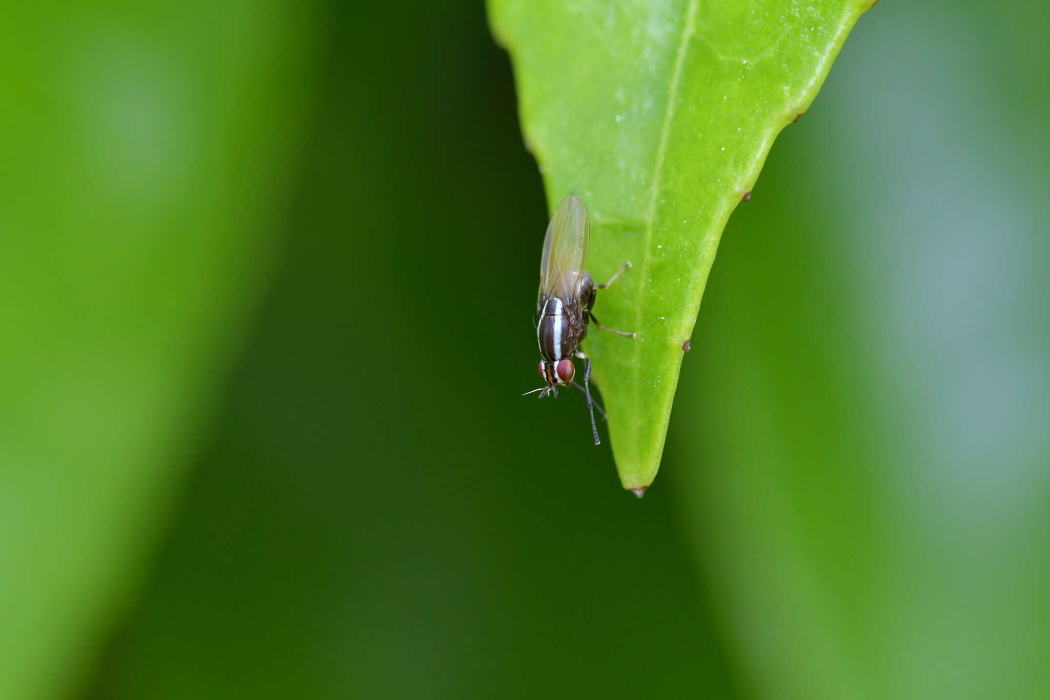
M 540 299 L 575 297 L 587 263 L 590 222 L 587 206 L 574 194 L 562 199 L 547 227 L 540 259 Z

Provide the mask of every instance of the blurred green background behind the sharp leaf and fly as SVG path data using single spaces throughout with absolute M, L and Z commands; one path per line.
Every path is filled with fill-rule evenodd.
M 1047 696 L 1046 8 L 861 18 L 643 501 L 480 3 L 9 9 L 0 697 Z

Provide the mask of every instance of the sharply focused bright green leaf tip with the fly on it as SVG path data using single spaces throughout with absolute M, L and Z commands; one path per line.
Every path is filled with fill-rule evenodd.
M 870 4 L 489 1 L 549 205 L 570 192 L 587 203 L 595 279 L 634 263 L 596 311 L 637 339 L 591 331 L 585 343 L 625 488 L 647 488 L 659 467 L 730 213 Z

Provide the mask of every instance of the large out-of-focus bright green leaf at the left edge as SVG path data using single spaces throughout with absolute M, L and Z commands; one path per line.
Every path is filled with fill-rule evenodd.
M 269 269 L 310 82 L 286 0 L 13 3 L 0 46 L 0 697 L 66 697 Z

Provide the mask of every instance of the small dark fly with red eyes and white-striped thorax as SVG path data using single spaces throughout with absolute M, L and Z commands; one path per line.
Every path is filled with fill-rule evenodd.
M 602 331 L 609 331 L 628 338 L 633 333 L 614 331 L 598 323 L 594 318 L 594 292 L 608 289 L 616 278 L 631 267 L 628 261 L 605 284 L 595 284 L 584 266 L 587 263 L 587 243 L 590 237 L 590 222 L 584 200 L 574 194 L 562 199 L 547 227 L 547 237 L 543 241 L 543 258 L 540 260 L 540 296 L 536 313 L 540 317 L 537 340 L 540 343 L 540 378 L 547 382 L 528 394 L 540 393 L 540 398 L 553 394 L 558 398 L 558 387 L 571 384 L 587 396 L 587 409 L 591 417 L 594 444 L 600 445 L 597 425 L 594 423 L 594 402 L 590 396 L 590 358 L 576 349 L 587 336 L 587 324 L 593 321 Z M 584 361 L 584 385 L 572 381 L 576 368 L 572 358 Z M 602 416 L 605 411 L 597 407 Z

